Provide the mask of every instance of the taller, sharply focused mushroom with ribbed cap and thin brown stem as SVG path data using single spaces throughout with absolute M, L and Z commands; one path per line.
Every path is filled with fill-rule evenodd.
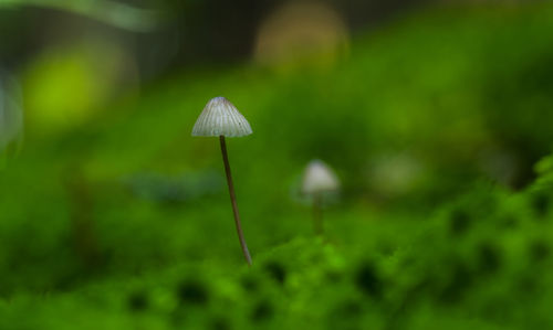
M 192 128 L 194 137 L 219 137 L 238 238 L 240 239 L 240 246 L 242 247 L 242 253 L 249 266 L 251 266 L 251 256 L 242 233 L 225 138 L 243 137 L 250 134 L 252 134 L 252 130 L 248 120 L 246 120 L 244 116 L 238 111 L 234 105 L 225 97 L 215 97 L 210 99 Z

